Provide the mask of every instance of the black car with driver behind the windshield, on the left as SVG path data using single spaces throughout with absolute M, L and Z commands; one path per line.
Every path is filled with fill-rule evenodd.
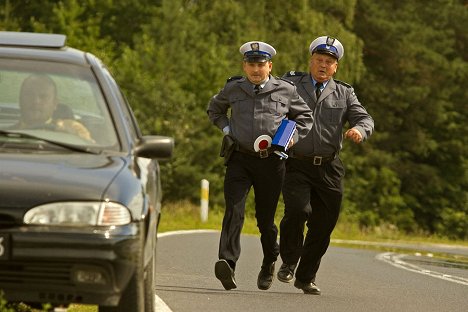
M 103 63 L 66 36 L 0 32 L 0 291 L 154 311 L 158 160 Z

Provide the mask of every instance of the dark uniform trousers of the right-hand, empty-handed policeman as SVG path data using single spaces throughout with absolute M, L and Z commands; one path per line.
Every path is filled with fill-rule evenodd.
M 296 279 L 314 282 L 330 244 L 343 198 L 344 167 L 337 157 L 320 166 L 289 158 L 283 186 L 280 249 L 284 263 L 297 264 Z M 304 224 L 308 231 L 304 239 Z

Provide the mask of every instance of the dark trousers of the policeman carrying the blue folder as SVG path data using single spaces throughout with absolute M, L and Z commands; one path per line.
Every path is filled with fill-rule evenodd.
M 239 259 L 240 234 L 244 224 L 245 203 L 250 189 L 255 194 L 255 218 L 260 230 L 263 262 L 276 261 L 279 254 L 278 228 L 274 223 L 276 206 L 285 173 L 285 162 L 276 155 L 268 158 L 234 152 L 226 167 L 224 198 L 226 211 L 219 242 L 219 259 L 235 267 Z

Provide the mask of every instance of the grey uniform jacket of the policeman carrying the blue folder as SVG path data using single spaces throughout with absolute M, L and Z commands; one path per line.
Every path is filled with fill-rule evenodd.
M 273 138 L 284 118 L 296 122 L 294 142 L 307 135 L 312 127 L 312 111 L 293 83 L 270 76 L 258 94 L 253 88 L 245 77 L 230 78 L 208 104 L 211 122 L 221 130 L 229 125 L 230 134 L 239 145 L 251 151 L 260 135 Z

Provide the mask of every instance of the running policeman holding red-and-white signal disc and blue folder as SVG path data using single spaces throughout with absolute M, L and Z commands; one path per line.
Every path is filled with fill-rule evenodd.
M 312 126 L 312 112 L 290 81 L 271 75 L 276 50 L 261 41 L 240 47 L 247 77 L 228 79 L 208 105 L 211 122 L 234 142 L 225 161 L 226 211 L 219 242 L 215 275 L 226 290 L 236 288 L 234 276 L 240 256 L 240 234 L 250 188 L 255 193 L 255 217 L 261 237 L 263 262 L 257 279 L 259 289 L 270 288 L 279 254 L 274 216 L 284 179 L 285 164 L 268 147 L 281 121 L 296 121 L 293 142 Z M 228 111 L 230 110 L 230 117 Z

